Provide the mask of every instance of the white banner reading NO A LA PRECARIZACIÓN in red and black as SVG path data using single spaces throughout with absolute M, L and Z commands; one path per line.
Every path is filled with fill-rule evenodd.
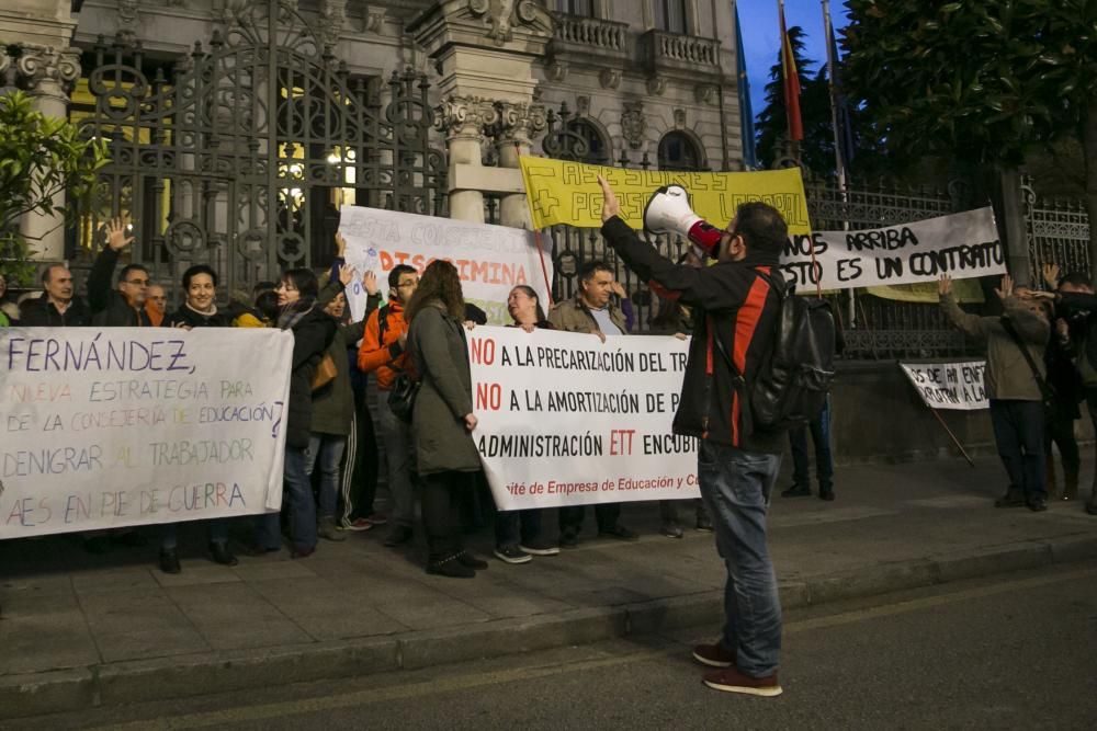
M 698 498 L 670 432 L 688 341 L 520 328 L 468 333 L 473 439 L 501 510 Z

